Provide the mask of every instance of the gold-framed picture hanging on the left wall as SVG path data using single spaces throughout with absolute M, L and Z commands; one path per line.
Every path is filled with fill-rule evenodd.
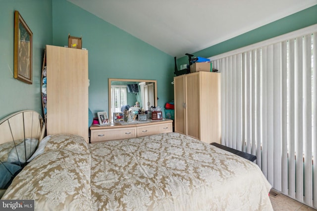
M 19 11 L 14 11 L 14 78 L 32 84 L 33 33 Z

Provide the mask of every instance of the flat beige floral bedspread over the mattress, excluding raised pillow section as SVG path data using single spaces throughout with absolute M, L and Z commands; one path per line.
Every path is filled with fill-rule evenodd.
M 267 211 L 259 167 L 179 133 L 90 144 L 94 210 Z

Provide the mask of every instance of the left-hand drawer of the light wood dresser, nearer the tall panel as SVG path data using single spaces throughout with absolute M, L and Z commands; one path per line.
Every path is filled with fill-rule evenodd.
M 136 127 L 113 128 L 113 129 L 95 129 L 91 130 L 90 141 L 109 141 L 116 139 L 135 138 Z

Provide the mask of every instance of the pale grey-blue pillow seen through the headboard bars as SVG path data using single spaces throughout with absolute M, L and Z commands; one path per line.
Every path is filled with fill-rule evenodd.
M 25 139 L 24 142 L 16 145 L 10 150 L 8 159 L 7 159 L 8 163 L 24 164 L 26 160 L 29 159 L 31 155 L 35 152 L 38 146 L 39 140 L 36 138 L 32 138 L 32 139 L 27 138 Z

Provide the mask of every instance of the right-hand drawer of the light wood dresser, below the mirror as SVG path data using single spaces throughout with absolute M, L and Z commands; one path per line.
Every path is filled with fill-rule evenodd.
M 156 124 L 156 125 L 148 125 L 148 126 L 138 126 L 137 127 L 137 136 L 146 136 L 146 135 L 154 135 L 163 132 L 172 132 L 173 127 L 172 123 L 165 124 Z

